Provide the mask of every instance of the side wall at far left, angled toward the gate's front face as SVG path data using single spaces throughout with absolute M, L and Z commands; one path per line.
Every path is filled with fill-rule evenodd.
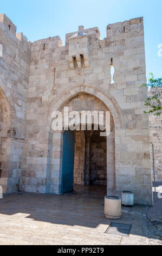
M 15 192 L 21 176 L 30 69 L 30 42 L 4 14 L 0 15 L 0 185 Z

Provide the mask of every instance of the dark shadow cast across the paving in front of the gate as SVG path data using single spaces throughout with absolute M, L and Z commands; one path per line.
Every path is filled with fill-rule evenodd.
M 105 191 L 99 193 L 97 190 L 94 190 L 93 193 L 82 191 L 80 194 L 67 193 L 62 195 L 24 192 L 9 194 L 0 200 L 0 214 L 1 216 L 17 215 L 17 217 L 19 214 L 24 214 L 24 218 L 63 225 L 65 228 L 67 225 L 88 228 L 99 228 L 100 225 L 103 225 L 103 233 L 105 233 L 112 221 L 106 219 L 104 215 L 104 196 Z M 161 201 L 155 203 L 155 208 L 142 205 L 122 208 L 120 220 L 113 222 L 131 225 L 131 235 L 147 237 L 146 214 L 154 216 L 157 207 L 161 209 Z M 120 231 L 118 227 L 115 229 Z M 117 233 L 116 235 L 120 234 Z M 150 238 L 155 238 L 154 233 L 149 235 Z

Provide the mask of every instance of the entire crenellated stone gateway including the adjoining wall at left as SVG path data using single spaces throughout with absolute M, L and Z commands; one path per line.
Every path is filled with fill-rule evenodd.
M 135 203 L 152 205 L 142 17 L 108 25 L 103 40 L 98 27 L 80 26 L 63 46 L 59 36 L 31 43 L 1 14 L 0 44 L 3 193 L 60 194 L 73 163 L 70 182 L 105 186 L 107 195 L 132 191 Z M 74 131 L 74 154 L 65 152 L 64 132 L 51 129 L 52 113 L 64 107 L 111 112 L 109 136 Z

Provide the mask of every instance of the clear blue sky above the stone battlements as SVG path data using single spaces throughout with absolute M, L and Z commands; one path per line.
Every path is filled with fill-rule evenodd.
M 8 0 L 0 3 L 5 13 L 28 40 L 77 31 L 78 26 L 99 27 L 101 39 L 106 37 L 109 23 L 144 16 L 146 69 L 162 77 L 162 0 Z

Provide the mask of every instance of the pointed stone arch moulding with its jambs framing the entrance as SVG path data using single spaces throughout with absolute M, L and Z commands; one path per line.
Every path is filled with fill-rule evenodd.
M 108 95 L 106 92 L 100 88 L 93 86 L 80 85 L 70 88 L 68 92 L 66 91 L 61 96 L 57 97 L 49 107 L 49 110 L 44 117 L 42 124 L 42 132 L 48 133 L 48 145 L 51 148 L 51 157 L 49 157 L 48 168 L 50 166 L 49 173 L 53 172 L 56 178 L 51 178 L 48 175 L 48 193 L 60 193 L 61 192 L 61 180 L 62 180 L 62 153 L 63 153 L 63 133 L 61 131 L 53 132 L 51 131 L 51 114 L 54 111 L 61 111 L 66 103 L 73 99 L 79 94 L 93 95 L 96 99 L 99 99 L 103 104 L 109 109 L 112 114 L 114 122 L 114 131 L 107 138 L 107 190 L 115 190 L 115 131 L 122 129 L 124 127 L 124 115 L 122 114 L 121 108 L 118 102 L 113 96 Z M 41 133 L 42 135 L 42 133 Z M 50 138 L 50 139 L 49 139 Z M 56 158 L 55 158 L 56 157 Z M 55 176 L 54 175 L 54 176 Z M 57 185 L 56 185 L 57 183 Z

